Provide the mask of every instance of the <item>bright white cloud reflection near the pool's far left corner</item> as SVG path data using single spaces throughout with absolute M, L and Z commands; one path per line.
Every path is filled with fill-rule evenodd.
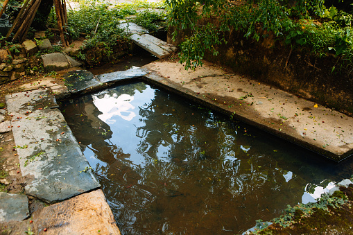
M 135 112 L 129 111 L 135 109 L 130 103 L 134 100 L 133 96 L 128 94 L 122 94 L 121 96 L 105 94 L 103 98 L 97 96 L 92 96 L 92 98 L 94 105 L 103 113 L 98 115 L 98 118 L 107 124 L 115 123 L 116 120 L 112 119 L 113 116 L 120 116 L 126 121 L 131 121 L 136 116 Z

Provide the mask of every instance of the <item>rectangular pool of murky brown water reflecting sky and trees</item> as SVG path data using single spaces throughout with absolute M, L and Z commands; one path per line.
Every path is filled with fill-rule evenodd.
M 60 106 L 122 234 L 239 234 L 351 176 L 143 82 Z

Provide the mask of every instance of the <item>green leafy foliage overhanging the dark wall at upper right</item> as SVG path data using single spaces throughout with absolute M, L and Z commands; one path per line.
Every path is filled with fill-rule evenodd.
M 324 0 L 291 2 L 167 0 L 171 7 L 169 26 L 175 28 L 173 37 L 180 31 L 190 32 L 180 44 L 180 62 L 186 62 L 186 69 L 202 65 L 205 51 L 217 55 L 216 46 L 226 43 L 225 33 L 232 29 L 257 41 L 272 33 L 278 40 L 292 47 L 304 47 L 318 56 L 334 50 L 347 64 L 353 64 L 352 15 L 334 7 L 326 9 Z M 218 19 L 217 25 L 210 18 Z

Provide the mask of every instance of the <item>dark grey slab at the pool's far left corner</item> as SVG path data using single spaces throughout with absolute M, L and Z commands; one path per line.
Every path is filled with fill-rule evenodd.
M 93 73 L 87 70 L 69 71 L 69 73 L 65 73 L 62 78 L 66 80 L 65 85 L 67 85 L 67 89 L 69 89 L 69 92 L 72 94 L 84 92 L 100 84 Z

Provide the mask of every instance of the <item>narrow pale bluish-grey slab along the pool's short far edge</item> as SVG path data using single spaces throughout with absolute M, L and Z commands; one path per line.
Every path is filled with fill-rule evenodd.
M 128 69 L 126 71 L 117 71 L 112 73 L 104 73 L 98 75 L 97 78 L 101 82 L 116 82 L 118 80 L 124 80 L 128 78 L 138 78 L 146 75 L 146 71 L 144 69 L 134 68 Z

